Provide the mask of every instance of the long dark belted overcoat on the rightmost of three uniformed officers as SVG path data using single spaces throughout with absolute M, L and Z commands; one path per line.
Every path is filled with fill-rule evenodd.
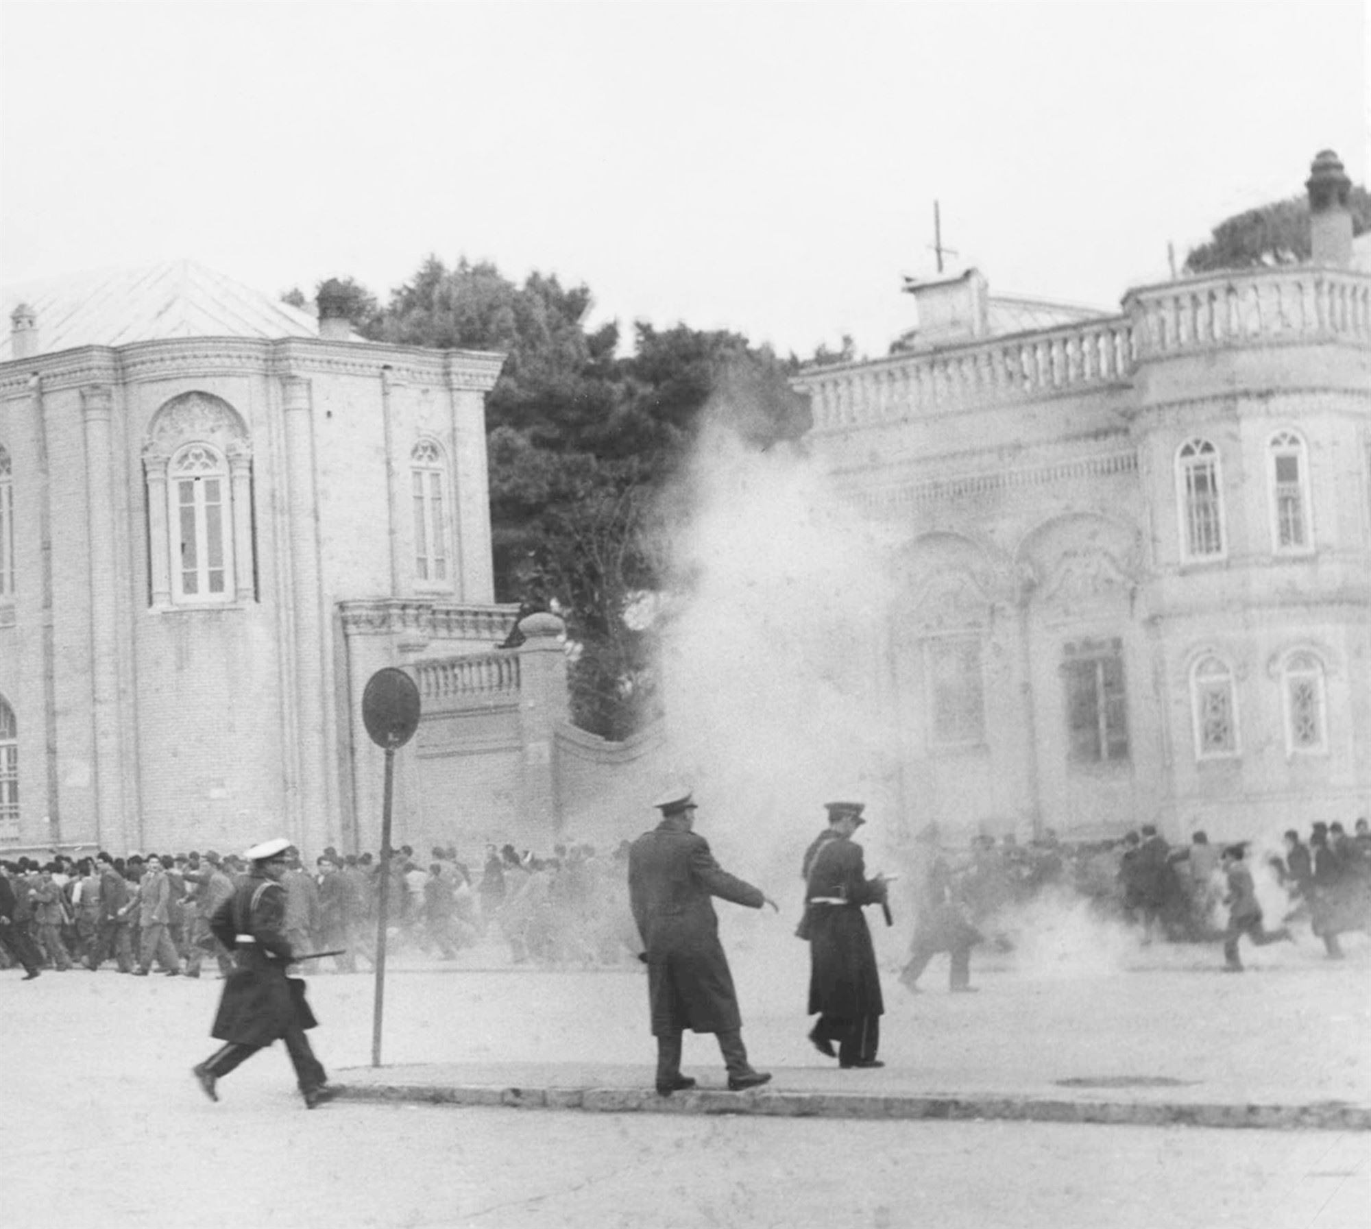
M 810 904 L 816 897 L 845 904 Z M 805 882 L 809 935 L 809 1012 L 834 1021 L 882 1015 L 880 970 L 862 905 L 886 900 L 882 879 L 868 879 L 861 845 L 835 835 L 817 848 Z

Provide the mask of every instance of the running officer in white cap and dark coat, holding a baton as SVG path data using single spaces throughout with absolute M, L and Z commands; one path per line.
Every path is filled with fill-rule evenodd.
M 304 981 L 285 975 L 287 966 L 298 955 L 284 933 L 281 878 L 288 870 L 289 848 L 291 842 L 280 838 L 250 849 L 244 855 L 250 863 L 248 875 L 210 918 L 210 930 L 233 952 L 237 964 L 223 983 L 219 1011 L 210 1030 L 211 1037 L 225 1044 L 193 1069 L 211 1101 L 219 1099 L 218 1079 L 277 1038 L 285 1042 L 306 1108 L 313 1110 L 335 1093 L 304 1036 L 304 1030 L 317 1023 L 304 1001 Z

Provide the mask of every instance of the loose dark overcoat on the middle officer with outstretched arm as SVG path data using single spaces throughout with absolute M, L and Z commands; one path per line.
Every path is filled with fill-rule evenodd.
M 761 889 L 720 867 L 703 837 L 664 819 L 629 848 L 628 896 L 646 949 L 653 1036 L 740 1029 L 710 897 L 760 909 Z

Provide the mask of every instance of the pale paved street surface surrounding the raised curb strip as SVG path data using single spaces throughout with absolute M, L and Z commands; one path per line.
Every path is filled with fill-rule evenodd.
M 1178 1081 L 1168 1097 L 1371 1103 L 1361 937 L 1342 966 L 1300 945 L 1254 953 L 1242 978 L 1212 974 L 1208 948 L 1121 953 L 1082 977 L 983 960 L 975 996 L 943 993 L 935 964 L 917 997 L 887 979 L 890 1066 L 838 1073 L 803 1041 L 803 949 L 776 933 L 735 927 L 729 941 L 744 1034 L 777 1088 L 1071 1095 L 1058 1079 L 1160 1078 Z M 495 1082 L 596 1067 L 650 1078 L 636 970 L 540 973 L 500 959 L 398 959 L 385 1063 Z M 372 985 L 361 974 L 310 982 L 314 1038 L 336 1078 L 369 1064 Z M 347 1101 L 310 1114 L 280 1047 L 223 1081 L 214 1106 L 188 1069 L 213 1045 L 217 994 L 213 979 L 0 974 L 0 1088 L 18 1127 L 3 1166 L 8 1222 L 1360 1229 L 1371 1206 L 1368 1133 Z M 720 1082 L 712 1038 L 688 1038 L 686 1067 Z

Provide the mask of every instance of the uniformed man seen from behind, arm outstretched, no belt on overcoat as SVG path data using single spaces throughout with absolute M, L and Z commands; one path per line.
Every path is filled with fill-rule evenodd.
M 647 994 L 657 1037 L 657 1092 L 670 1096 L 695 1081 L 681 1075 L 681 1033 L 714 1033 L 733 1092 L 771 1079 L 747 1062 L 742 1016 L 728 959 L 718 941 L 712 896 L 760 909 L 776 903 L 729 875 L 696 835 L 695 800 L 677 786 L 654 804 L 661 823 L 628 852 L 628 894 L 647 963 Z

